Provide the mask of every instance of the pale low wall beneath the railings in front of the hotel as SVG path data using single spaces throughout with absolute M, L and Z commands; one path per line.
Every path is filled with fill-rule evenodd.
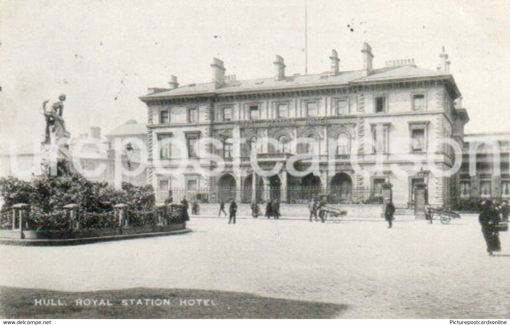
M 228 215 L 229 203 L 225 203 L 225 212 Z M 382 204 L 328 204 L 330 207 L 347 211 L 347 218 L 379 218 L 382 216 Z M 266 205 L 259 204 L 262 215 L 265 214 Z M 218 216 L 219 204 L 199 204 L 199 215 Z M 191 208 L 188 210 L 191 214 Z M 289 218 L 309 218 L 310 210 L 307 204 L 281 204 L 280 214 Z M 223 215 L 223 214 L 222 214 Z M 251 216 L 250 204 L 238 204 L 238 216 Z

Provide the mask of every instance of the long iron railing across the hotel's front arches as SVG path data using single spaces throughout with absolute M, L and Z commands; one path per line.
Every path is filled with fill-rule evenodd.
M 324 199 L 329 204 L 382 203 L 381 191 L 370 188 L 259 187 L 256 189 L 255 195 L 252 194 L 251 188 L 244 190 L 233 187 L 219 187 L 214 190 L 186 190 L 182 188 L 173 188 L 167 191 L 155 191 L 155 195 L 156 201 L 158 202 L 168 200 L 180 202 L 184 197 L 186 197 L 188 201 L 197 201 L 198 203 L 228 202 L 232 199 L 241 203 L 250 203 L 253 200 L 261 203 L 270 199 L 277 199 L 282 203 L 306 204 L 312 198 Z

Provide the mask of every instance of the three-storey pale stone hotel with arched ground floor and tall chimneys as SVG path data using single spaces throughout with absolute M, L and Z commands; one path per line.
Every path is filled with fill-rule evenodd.
M 148 108 L 149 184 L 174 200 L 303 203 L 321 194 L 352 203 L 377 200 L 388 182 L 404 208 L 424 181 L 430 204 L 449 204 L 458 172 L 435 171 L 454 166 L 445 140 L 462 147 L 469 118 L 448 55 L 443 49 L 436 71 L 414 60 L 374 69 L 367 43 L 362 57 L 363 69 L 342 72 L 333 50 L 329 71 L 287 76 L 276 56 L 274 76 L 257 80 L 225 76 L 214 58 L 212 82 L 179 86 L 172 76 L 169 88 L 149 88 L 140 97 Z M 219 173 L 203 172 L 219 165 Z

